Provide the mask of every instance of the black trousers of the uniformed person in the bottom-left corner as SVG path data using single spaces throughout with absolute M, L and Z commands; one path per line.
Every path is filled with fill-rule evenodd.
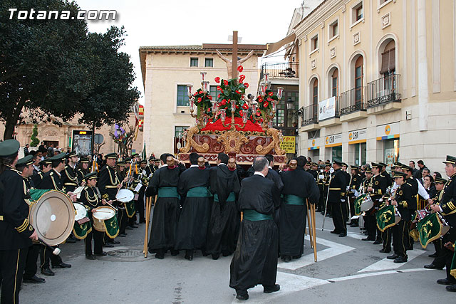
M 19 303 L 28 248 L 0 251 L 1 304 Z

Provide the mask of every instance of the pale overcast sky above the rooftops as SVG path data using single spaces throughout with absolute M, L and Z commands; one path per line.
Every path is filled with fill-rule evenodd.
M 89 31 L 105 32 L 125 26 L 128 36 L 121 51 L 135 65 L 134 85 L 144 89 L 140 73 L 140 46 L 175 46 L 229 43 L 228 35 L 239 31 L 242 43 L 272 43 L 286 36 L 299 0 L 76 0 L 81 9 L 115 9 L 115 21 L 87 21 Z M 160 3 L 159 3 L 160 2 Z M 282 58 L 276 58 L 281 61 Z

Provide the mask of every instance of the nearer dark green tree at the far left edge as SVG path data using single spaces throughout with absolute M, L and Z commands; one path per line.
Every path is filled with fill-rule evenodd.
M 9 19 L 10 8 L 30 11 L 71 11 L 79 7 L 66 0 L 0 1 L 0 120 L 4 140 L 30 110 L 35 120 L 50 115 L 71 119 L 91 90 L 87 24 L 78 19 Z

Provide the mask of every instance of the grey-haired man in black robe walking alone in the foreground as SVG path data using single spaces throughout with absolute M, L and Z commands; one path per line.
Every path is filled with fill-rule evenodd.
M 264 178 L 269 171 L 265 157 L 257 157 L 253 169 L 254 175 L 241 183 L 238 209 L 244 212 L 244 220 L 230 266 L 229 287 L 239 300 L 247 300 L 247 289 L 257 284 L 263 285 L 264 293 L 280 290 L 276 284 L 279 239 L 272 219 L 280 194 L 274 182 Z

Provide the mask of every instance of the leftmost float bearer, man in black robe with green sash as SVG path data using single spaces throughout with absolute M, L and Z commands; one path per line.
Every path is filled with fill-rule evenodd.
M 179 251 L 174 250 L 174 247 L 177 219 L 179 219 L 180 214 L 177 183 L 181 171 L 175 165 L 172 154 L 162 154 L 160 162 L 162 167 L 154 172 L 145 195 L 157 195 L 150 228 L 149 252 L 156 253 L 155 258 L 162 259 L 168 249 L 171 249 L 173 256 L 179 253 Z

